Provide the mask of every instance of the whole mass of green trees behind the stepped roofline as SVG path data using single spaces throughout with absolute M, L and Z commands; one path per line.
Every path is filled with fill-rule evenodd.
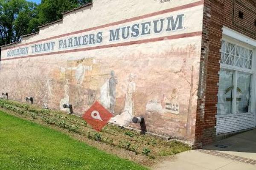
M 62 18 L 62 12 L 92 0 L 0 0 L 0 45 L 21 40 L 21 36 L 39 30 L 38 26 Z

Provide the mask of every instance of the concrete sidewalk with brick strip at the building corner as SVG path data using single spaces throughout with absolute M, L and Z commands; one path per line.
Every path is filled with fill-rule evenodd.
M 256 170 L 256 129 L 215 142 L 203 150 L 180 153 L 152 169 Z

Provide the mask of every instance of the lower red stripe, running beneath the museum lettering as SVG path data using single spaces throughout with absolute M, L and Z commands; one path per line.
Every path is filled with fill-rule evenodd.
M 199 31 L 199 32 L 171 35 L 171 36 L 165 36 L 165 37 L 151 38 L 151 39 L 146 39 L 146 40 L 137 40 L 137 41 L 122 42 L 122 43 L 109 44 L 109 45 L 101 45 L 101 46 L 96 46 L 96 47 L 79 48 L 79 49 L 72 49 L 72 50 L 65 50 L 65 51 L 56 51 L 56 52 L 50 52 L 50 53 L 44 53 L 44 54 L 34 54 L 34 55 L 23 56 L 23 57 L 13 57 L 13 58 L 2 59 L 1 61 L 11 60 L 11 59 L 22 59 L 22 58 L 46 56 L 46 55 L 63 54 L 63 53 L 72 53 L 72 52 L 79 52 L 79 51 L 90 51 L 90 50 L 97 50 L 97 49 L 103 49 L 103 48 L 112 48 L 112 47 L 128 46 L 128 45 L 135 45 L 135 44 L 143 44 L 143 43 L 149 43 L 149 42 L 157 42 L 157 41 L 163 41 L 163 40 L 173 40 L 173 39 L 180 39 L 180 38 L 186 38 L 186 37 L 195 37 L 195 36 L 201 36 L 201 35 L 202 35 L 202 31 Z

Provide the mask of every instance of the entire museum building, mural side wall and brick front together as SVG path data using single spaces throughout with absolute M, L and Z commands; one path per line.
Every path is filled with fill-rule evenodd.
M 256 126 L 253 0 L 93 0 L 1 47 L 9 99 L 81 116 L 100 102 L 111 123 L 195 147 Z

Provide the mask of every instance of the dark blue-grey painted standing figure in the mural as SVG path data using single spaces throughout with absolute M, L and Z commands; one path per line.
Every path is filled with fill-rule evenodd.
M 115 72 L 111 71 L 111 77 L 109 79 L 109 94 L 110 94 L 110 112 L 114 113 L 116 105 L 116 85 L 117 79 L 115 77 Z

